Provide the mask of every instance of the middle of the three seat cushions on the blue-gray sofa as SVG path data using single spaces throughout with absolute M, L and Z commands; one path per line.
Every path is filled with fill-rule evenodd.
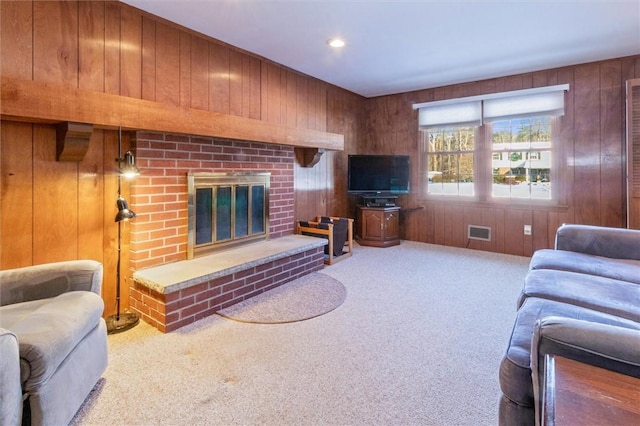
M 529 271 L 518 306 L 527 297 L 556 300 L 640 321 L 640 285 L 551 269 Z

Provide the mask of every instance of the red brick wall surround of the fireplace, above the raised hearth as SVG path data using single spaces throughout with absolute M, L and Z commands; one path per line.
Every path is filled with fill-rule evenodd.
M 269 235 L 293 234 L 293 147 L 199 136 L 139 132 L 142 171 L 131 186 L 131 268 L 187 258 L 187 174 L 269 172 Z

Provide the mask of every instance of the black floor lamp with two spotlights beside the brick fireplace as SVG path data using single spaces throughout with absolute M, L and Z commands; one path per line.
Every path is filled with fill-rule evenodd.
M 122 247 L 122 222 L 128 221 L 136 217 L 136 214 L 129 210 L 127 200 L 122 197 L 122 177 L 133 177 L 140 174 L 138 168 L 135 165 L 135 158 L 131 151 L 127 151 L 122 156 L 122 129 L 118 129 L 118 199 L 116 200 L 116 206 L 118 207 L 118 213 L 116 214 L 116 223 L 118 224 L 118 264 L 116 270 L 116 314 L 105 318 L 107 322 L 107 333 L 114 334 L 122 331 L 129 330 L 135 327 L 140 318 L 131 312 L 120 313 L 120 258 Z

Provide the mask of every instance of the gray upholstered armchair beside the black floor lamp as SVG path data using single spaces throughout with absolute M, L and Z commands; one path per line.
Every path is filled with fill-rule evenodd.
M 107 367 L 102 265 L 0 271 L 0 424 L 68 424 Z

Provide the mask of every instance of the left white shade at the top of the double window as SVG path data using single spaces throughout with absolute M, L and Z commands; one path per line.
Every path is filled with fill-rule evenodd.
M 421 129 L 444 126 L 479 126 L 482 124 L 482 104 L 480 101 L 456 104 L 435 103 L 420 108 L 418 124 Z

